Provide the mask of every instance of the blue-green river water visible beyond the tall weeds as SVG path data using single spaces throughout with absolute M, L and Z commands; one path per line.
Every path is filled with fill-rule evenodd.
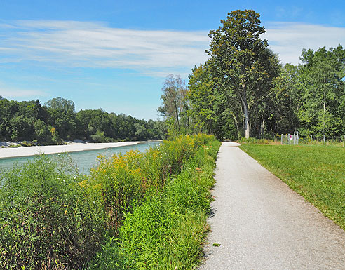
M 89 151 L 79 151 L 79 152 L 71 152 L 69 156 L 71 156 L 72 160 L 76 162 L 77 166 L 81 173 L 88 174 L 90 172 L 90 168 L 97 165 L 97 156 L 103 155 L 107 156 L 108 158 L 113 154 L 125 154 L 129 150 L 138 150 L 141 152 L 146 151 L 150 147 L 154 147 L 161 142 L 152 141 L 152 142 L 140 142 L 139 144 L 134 145 L 126 145 L 124 147 L 111 147 L 107 149 L 97 149 L 97 150 L 89 150 Z M 58 154 L 49 154 L 47 156 L 55 156 Z M 0 158 L 0 169 L 12 168 L 15 163 L 18 165 L 24 164 L 27 161 L 32 161 L 34 156 L 21 156 L 17 158 Z

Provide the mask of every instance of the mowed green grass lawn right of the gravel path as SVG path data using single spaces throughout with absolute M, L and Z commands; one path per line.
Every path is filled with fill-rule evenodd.
M 345 229 L 345 149 L 243 144 L 241 149 Z

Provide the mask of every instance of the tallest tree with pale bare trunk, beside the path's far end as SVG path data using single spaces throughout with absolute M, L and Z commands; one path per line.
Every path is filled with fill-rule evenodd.
M 278 75 L 278 60 L 267 48 L 266 31 L 260 26 L 259 13 L 232 11 L 217 30 L 210 31 L 207 50 L 219 77 L 218 83 L 234 93 L 241 102 L 245 137 L 250 137 L 250 101 L 265 97 L 274 76 Z M 273 65 L 273 66 L 272 66 Z

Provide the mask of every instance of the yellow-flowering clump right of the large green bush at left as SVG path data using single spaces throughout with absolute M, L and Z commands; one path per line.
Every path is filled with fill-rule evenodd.
M 128 151 L 124 156 L 114 155 L 109 160 L 100 156 L 97 168 L 91 170 L 87 187 L 92 190 L 95 200 L 100 201 L 102 215 L 111 234 L 117 234 L 123 212 L 132 201 L 140 200 L 144 194 L 146 187 L 140 168 L 141 159 L 139 151 Z

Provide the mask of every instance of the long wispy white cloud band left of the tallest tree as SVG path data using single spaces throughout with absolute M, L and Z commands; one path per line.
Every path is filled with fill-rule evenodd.
M 1 25 L 0 25 L 1 27 Z M 96 22 L 18 21 L 1 42 L 6 60 L 111 67 L 161 74 L 188 70 L 207 59 L 207 32 L 116 29 Z

